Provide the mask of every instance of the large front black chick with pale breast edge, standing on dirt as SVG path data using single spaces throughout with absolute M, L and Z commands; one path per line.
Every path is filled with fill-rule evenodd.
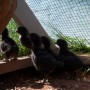
M 31 55 L 32 62 L 36 70 L 45 76 L 44 83 L 48 78 L 48 75 L 56 68 L 57 61 L 52 53 L 48 52 L 45 48 L 42 48 L 42 41 L 39 35 L 31 33 L 30 39 L 33 45 Z

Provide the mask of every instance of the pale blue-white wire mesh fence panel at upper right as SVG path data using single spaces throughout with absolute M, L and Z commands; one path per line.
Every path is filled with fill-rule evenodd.
M 90 44 L 90 0 L 25 0 L 46 32 Z

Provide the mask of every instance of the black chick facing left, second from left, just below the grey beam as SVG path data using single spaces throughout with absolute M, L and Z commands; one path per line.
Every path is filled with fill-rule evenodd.
M 21 35 L 20 41 L 21 44 L 26 47 L 26 48 L 31 48 L 31 41 L 30 41 L 30 36 L 28 30 L 24 26 L 18 27 L 17 33 Z

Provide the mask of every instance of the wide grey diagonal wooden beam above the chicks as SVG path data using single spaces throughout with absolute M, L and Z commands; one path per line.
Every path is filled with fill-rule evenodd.
M 17 0 L 17 8 L 14 13 L 15 20 L 19 25 L 27 27 L 29 32 L 35 32 L 39 35 L 48 36 L 42 25 L 39 23 L 25 0 Z

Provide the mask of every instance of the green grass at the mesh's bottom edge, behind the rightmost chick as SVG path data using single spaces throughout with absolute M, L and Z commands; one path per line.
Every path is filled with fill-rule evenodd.
M 87 45 L 87 40 L 82 39 L 80 37 L 72 38 L 69 36 L 65 36 L 60 30 L 51 26 L 53 29 L 53 34 L 57 37 L 57 39 L 64 39 L 68 42 L 69 48 L 71 51 L 78 53 L 88 53 L 90 52 L 90 46 Z M 52 39 L 53 42 L 56 42 L 55 39 Z

